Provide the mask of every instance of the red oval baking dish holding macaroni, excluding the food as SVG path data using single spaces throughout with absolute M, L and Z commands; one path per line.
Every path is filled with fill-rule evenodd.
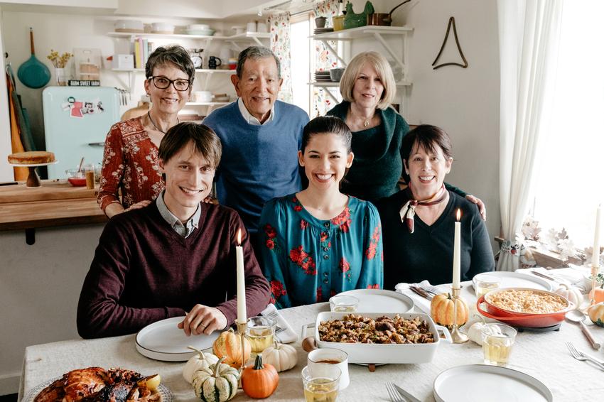
M 517 311 L 512 310 L 504 310 L 502 308 L 496 307 L 491 303 L 485 300 L 487 295 L 492 295 L 499 292 L 504 292 L 505 290 L 532 290 L 535 293 L 544 293 L 547 295 L 554 295 L 556 297 L 561 298 L 566 301 L 566 308 L 563 308 L 560 311 L 556 311 L 555 313 L 543 313 L 543 314 L 535 314 L 535 313 L 518 313 Z M 486 310 L 482 310 L 480 305 L 485 303 Z M 554 292 L 548 292 L 547 290 L 538 290 L 532 288 L 502 288 L 497 290 L 491 290 L 489 293 L 482 295 L 478 302 L 476 303 L 476 308 L 480 311 L 480 314 L 485 317 L 493 318 L 495 320 L 499 320 L 501 322 L 505 322 L 505 324 L 513 325 L 514 327 L 530 327 L 530 328 L 543 328 L 543 327 L 551 327 L 552 325 L 556 325 L 564 318 L 566 318 L 566 313 L 575 308 L 575 305 L 568 301 L 566 298 L 563 298 L 561 295 L 556 294 Z

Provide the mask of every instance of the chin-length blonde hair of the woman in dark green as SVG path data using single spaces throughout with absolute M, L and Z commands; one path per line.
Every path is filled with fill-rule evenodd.
M 397 83 L 394 81 L 394 75 L 392 74 L 392 68 L 388 60 L 377 52 L 363 52 L 355 56 L 344 70 L 342 80 L 340 80 L 340 94 L 346 102 L 355 102 L 355 98 L 352 97 L 352 88 L 355 87 L 357 77 L 365 65 L 370 65 L 374 68 L 375 72 L 382 80 L 384 85 L 384 92 L 382 92 L 382 99 L 377 104 L 378 109 L 387 109 L 394 96 L 397 94 Z

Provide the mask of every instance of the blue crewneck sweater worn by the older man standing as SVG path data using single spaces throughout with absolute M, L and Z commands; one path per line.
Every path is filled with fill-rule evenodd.
M 203 119 L 222 143 L 218 202 L 239 212 L 252 234 L 257 232 L 266 201 L 302 189 L 297 152 L 308 114 L 285 102 L 276 101 L 274 107 L 273 121 L 261 126 L 245 121 L 237 102 Z

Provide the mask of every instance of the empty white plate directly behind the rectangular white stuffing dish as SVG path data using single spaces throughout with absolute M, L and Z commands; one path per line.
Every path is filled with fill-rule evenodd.
M 355 289 L 338 293 L 359 299 L 357 313 L 411 313 L 413 300 L 401 293 L 384 289 Z

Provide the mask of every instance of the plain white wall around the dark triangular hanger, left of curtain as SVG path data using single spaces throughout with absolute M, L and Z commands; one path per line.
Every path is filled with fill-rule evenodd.
M 388 0 L 388 12 L 399 4 Z M 377 9 L 377 8 L 376 8 Z M 394 25 L 414 28 L 409 40 L 409 124 L 434 124 L 453 142 L 453 168 L 446 181 L 479 197 L 487 206 L 491 239 L 500 233 L 499 119 L 500 69 L 497 2 L 412 0 L 394 11 Z M 449 18 L 468 67 L 433 70 Z M 453 28 L 441 63 L 463 64 Z M 492 241 L 495 247 L 495 242 Z M 496 248 L 495 248 L 496 249 Z

